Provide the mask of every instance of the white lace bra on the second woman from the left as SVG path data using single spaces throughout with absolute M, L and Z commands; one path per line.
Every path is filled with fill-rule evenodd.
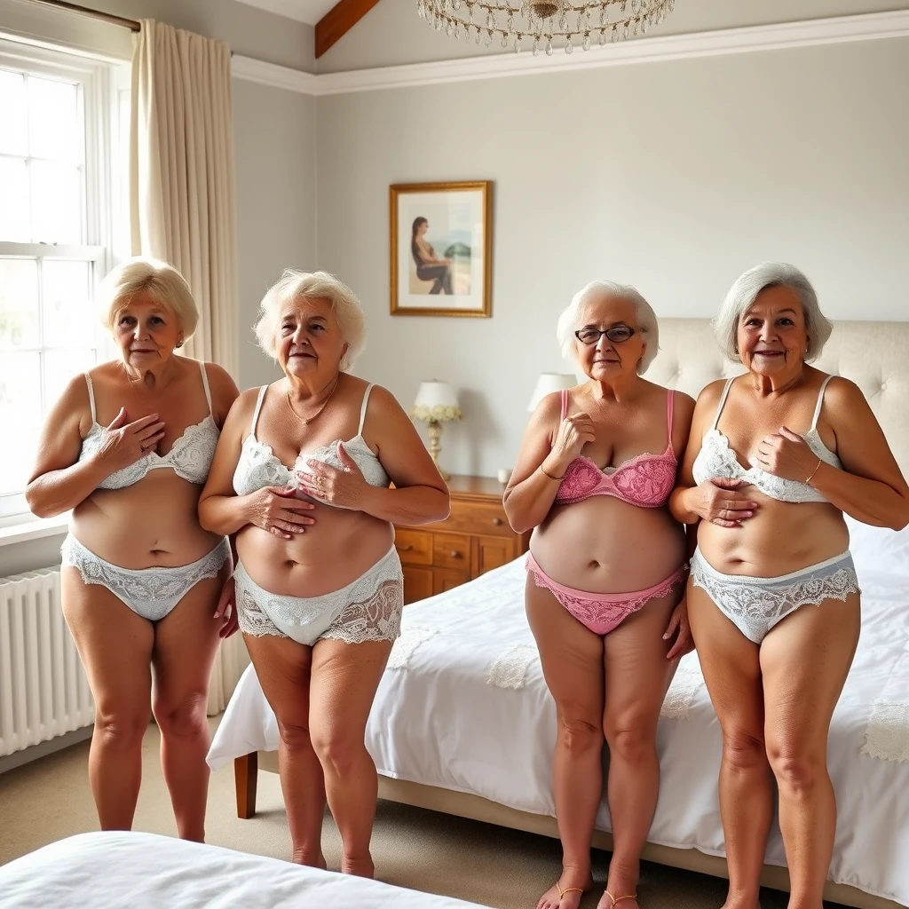
M 360 428 L 357 434 L 342 444 L 345 452 L 350 455 L 357 467 L 360 468 L 366 483 L 371 486 L 387 486 L 388 474 L 385 468 L 379 462 L 379 459 L 373 454 L 369 445 L 363 437 L 363 425 L 366 419 L 366 405 L 369 403 L 369 393 L 373 386 L 367 385 L 363 395 L 363 406 L 360 408 Z M 293 468 L 283 464 L 272 451 L 271 445 L 265 445 L 255 437 L 255 425 L 259 422 L 259 411 L 262 410 L 262 402 L 265 401 L 265 392 L 268 385 L 263 385 L 259 389 L 259 397 L 255 402 L 255 411 L 253 412 L 253 422 L 249 427 L 249 435 L 243 440 L 243 446 L 240 449 L 240 458 L 237 461 L 234 471 L 234 491 L 237 495 L 248 495 L 255 493 L 257 489 L 264 486 L 295 486 L 295 475 L 298 471 L 304 474 L 311 474 L 312 470 L 307 461 L 321 461 L 323 464 L 330 464 L 339 470 L 344 469 L 337 455 L 337 444 L 341 439 L 335 439 L 331 445 L 321 445 L 312 452 L 300 452 L 297 455 Z M 324 503 L 327 504 L 327 503 Z M 335 505 L 333 507 L 345 507 Z

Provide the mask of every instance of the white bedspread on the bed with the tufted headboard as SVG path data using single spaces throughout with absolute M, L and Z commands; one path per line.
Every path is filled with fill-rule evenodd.
M 862 638 L 830 733 L 839 805 L 830 876 L 909 904 L 907 579 L 857 564 Z M 379 773 L 554 815 L 554 704 L 524 615 L 523 559 L 407 606 L 392 664 L 366 731 Z M 890 760 L 871 756 L 868 743 L 875 742 Z M 277 744 L 274 714 L 250 667 L 215 735 L 209 764 L 273 751 Z M 696 654 L 680 664 L 657 744 L 662 783 L 650 841 L 723 855 L 716 792 L 721 734 Z M 597 826 L 610 829 L 605 804 Z M 775 825 L 766 861 L 785 865 Z

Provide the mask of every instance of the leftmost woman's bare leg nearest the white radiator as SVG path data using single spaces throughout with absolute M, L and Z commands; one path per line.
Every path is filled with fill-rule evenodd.
M 88 778 L 102 830 L 129 830 L 151 720 L 154 630 L 101 584 L 63 569 L 63 612 L 95 700 Z

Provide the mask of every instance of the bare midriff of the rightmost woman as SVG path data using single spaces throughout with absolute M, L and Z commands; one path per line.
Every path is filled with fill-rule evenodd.
M 827 502 L 779 502 L 755 486 L 742 490 L 758 504 L 741 526 L 702 521 L 697 544 L 723 574 L 780 577 L 843 554 L 849 531 L 843 513 Z

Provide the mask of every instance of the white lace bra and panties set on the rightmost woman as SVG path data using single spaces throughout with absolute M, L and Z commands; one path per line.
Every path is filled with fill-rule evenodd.
M 824 391 L 831 378 L 833 376 L 828 375 L 821 385 L 811 428 L 802 438 L 825 464 L 842 469 L 840 459 L 824 445 L 817 432 L 817 420 L 824 405 Z M 739 464 L 729 440 L 717 429 L 733 382 L 734 378 L 726 382 L 720 404 L 716 408 L 714 425 L 704 435 L 701 451 L 694 460 L 694 482 L 702 484 L 718 477 L 731 477 L 753 485 L 779 502 L 826 502 L 824 496 L 807 483 L 768 474 L 760 467 L 746 469 Z M 752 577 L 716 571 L 698 548 L 691 560 L 691 580 L 692 584 L 703 588 L 710 595 L 721 612 L 754 644 L 760 644 L 775 624 L 799 606 L 816 606 L 825 600 L 844 602 L 850 594 L 862 592 L 852 555 L 848 551 L 824 562 L 808 565 L 792 574 Z

